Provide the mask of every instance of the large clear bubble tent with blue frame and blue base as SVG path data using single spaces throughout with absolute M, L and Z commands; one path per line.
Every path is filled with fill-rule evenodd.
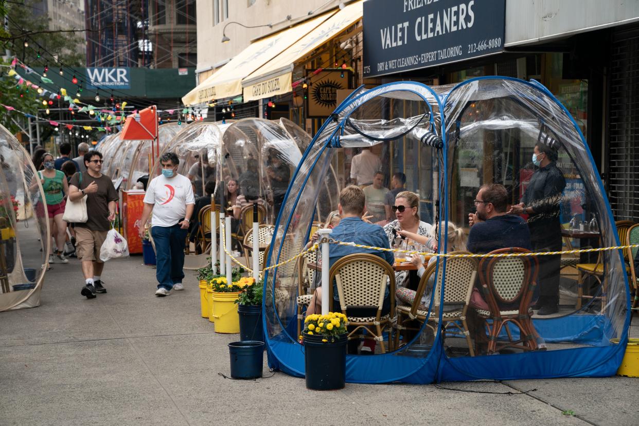
M 433 222 L 444 224 L 438 235 L 442 241 L 438 249 L 443 253 L 447 242 L 441 229 L 454 222 L 469 232 L 468 213 L 475 211 L 473 204 L 481 185 L 499 183 L 509 194 L 509 204 L 520 203 L 535 173 L 531 157 L 537 142 L 553 149 L 553 162 L 565 181 L 553 202 L 561 224 L 557 230 L 561 237 L 556 237 L 563 248 L 579 248 L 592 242 L 572 238 L 580 234 L 573 232 L 575 227 L 581 231 L 586 227 L 587 232 L 592 229 L 590 240 L 596 240 L 594 244 L 600 247 L 619 245 L 599 173 L 569 111 L 535 81 L 479 77 L 449 86 L 396 82 L 354 91 L 313 138 L 291 178 L 268 264 L 289 259 L 307 243 L 318 183 L 343 148 L 381 145 L 392 150 L 397 144 L 419 144 L 424 148 L 419 153 L 420 160 L 432 164 L 433 173 L 426 181 L 418 174 L 420 199 L 430 197 L 424 203 L 432 208 L 430 217 Z M 424 212 L 420 214 L 424 220 Z M 583 283 L 587 287 L 583 293 L 590 298 L 578 297 L 574 268 L 555 270 L 560 309 L 550 316 L 532 316 L 536 332 L 546 342 L 544 351 L 504 349 L 470 356 L 463 335 L 444 335 L 441 326 L 436 326 L 433 339 L 433 331 L 422 326 L 414 337 L 403 339 L 399 349 L 374 356 L 349 354 L 346 381 L 433 383 L 612 376 L 624 355 L 630 319 L 622 256 L 621 250 L 601 252 L 601 284 L 590 279 Z M 592 258 L 578 262 L 584 261 L 595 262 Z M 445 280 L 448 263 L 445 257 L 437 263 L 438 282 L 431 290 L 427 317 L 435 312 L 432 300 L 435 289 L 441 288 Z M 297 272 L 296 262 L 267 271 L 263 321 L 270 367 L 304 376 L 304 346 L 297 342 Z M 444 293 L 445 288 L 441 294 Z M 443 303 L 443 296 L 440 302 Z M 439 315 L 441 324 L 442 314 Z M 516 337 L 516 328 L 507 329 Z M 498 340 L 511 337 L 505 331 Z

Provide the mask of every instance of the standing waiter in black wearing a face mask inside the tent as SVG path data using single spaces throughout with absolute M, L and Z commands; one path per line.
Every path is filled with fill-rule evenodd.
M 532 154 L 537 169 L 532 174 L 520 204 L 509 213 L 528 215 L 530 243 L 534 252 L 555 252 L 562 249 L 559 209 L 566 188 L 564 174 L 555 165 L 557 151 L 538 142 Z M 538 315 L 556 314 L 559 310 L 559 271 L 561 255 L 538 256 L 539 300 L 533 306 Z

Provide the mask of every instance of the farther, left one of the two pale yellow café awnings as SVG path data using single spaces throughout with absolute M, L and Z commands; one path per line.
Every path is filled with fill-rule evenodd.
M 195 89 L 183 96 L 184 105 L 208 102 L 212 99 L 231 98 L 242 95 L 242 79 L 257 70 L 273 57 L 277 56 L 300 40 L 303 36 L 332 17 L 334 13 L 325 13 L 296 26 L 280 31 L 251 43 L 211 77 L 204 80 Z

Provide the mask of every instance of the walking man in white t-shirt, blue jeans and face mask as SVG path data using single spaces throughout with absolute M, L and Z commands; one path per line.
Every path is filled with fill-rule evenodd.
M 163 297 L 168 296 L 171 289 L 184 289 L 184 241 L 196 201 L 191 182 L 177 172 L 178 156 L 165 153 L 160 157 L 160 164 L 162 174 L 146 188 L 139 234 L 144 238 L 144 226 L 153 211 L 151 236 L 155 242 L 158 280 L 155 295 Z

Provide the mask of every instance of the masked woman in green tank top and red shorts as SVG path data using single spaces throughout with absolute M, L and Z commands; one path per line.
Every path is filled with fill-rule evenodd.
M 56 257 L 62 263 L 68 263 L 63 250 L 65 249 L 66 240 L 66 222 L 62 220 L 65 214 L 66 202 L 65 198 L 69 194 L 69 186 L 66 182 L 66 176 L 63 172 L 55 169 L 53 156 L 45 153 L 42 156 L 43 169 L 38 172 L 42 188 L 45 192 L 45 200 L 47 201 L 47 211 L 49 212 L 49 227 L 53 232 L 53 238 L 56 241 Z M 55 225 L 55 227 L 54 227 Z M 53 255 L 49 256 L 49 262 L 53 263 Z

